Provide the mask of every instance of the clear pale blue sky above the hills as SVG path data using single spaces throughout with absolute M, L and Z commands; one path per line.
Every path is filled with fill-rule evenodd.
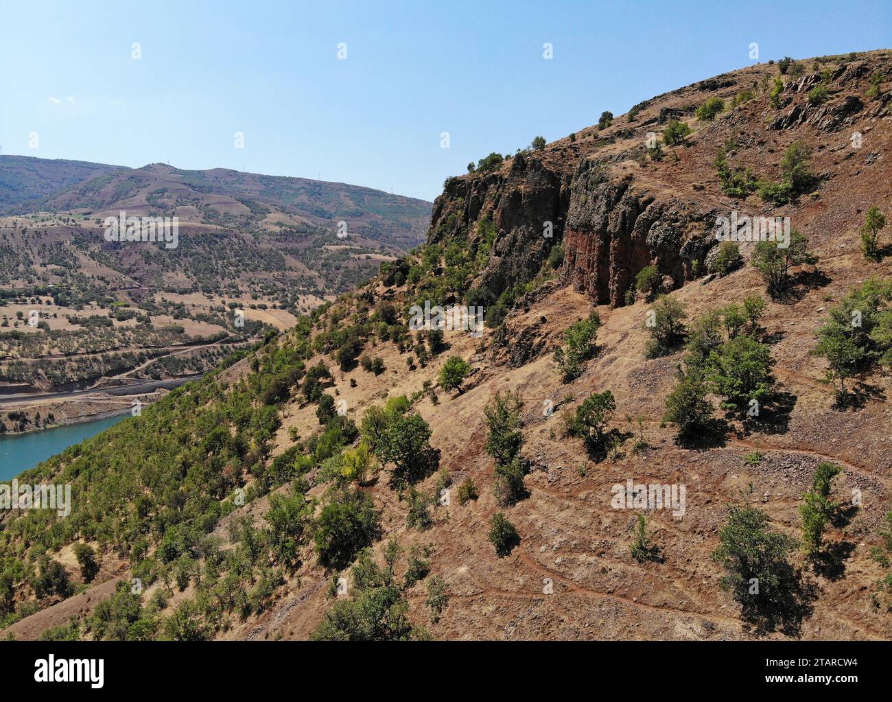
M 763 62 L 888 48 L 892 2 L 0 0 L 0 146 L 433 200 L 491 151 L 749 65 L 751 42 Z

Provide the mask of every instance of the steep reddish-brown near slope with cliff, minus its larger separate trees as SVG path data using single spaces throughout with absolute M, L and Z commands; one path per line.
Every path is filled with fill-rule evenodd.
M 431 574 L 409 579 L 398 599 L 408 603 L 409 621 L 437 638 L 888 639 L 888 610 L 871 604 L 886 572 L 871 549 L 883 548 L 883 518 L 892 508 L 892 383 L 888 368 L 874 366 L 861 375 L 860 402 L 837 409 L 833 388 L 822 382 L 826 363 L 812 351 L 831 308 L 866 278 L 892 272 L 888 258 L 865 260 L 859 246 L 865 212 L 879 206 L 888 215 L 892 197 L 892 101 L 882 78 L 892 74 L 892 53 L 803 65 L 814 63 L 800 77 L 782 76 L 779 97 L 771 94 L 777 66 L 753 66 L 659 95 L 632 119 L 581 130 L 490 172 L 450 179 L 417 255 L 384 264 L 371 284 L 302 318 L 252 356 L 24 476 L 70 480 L 74 507 L 67 520 L 45 512 L 4 517 L 0 538 L 10 554 L 4 570 L 14 582 L 14 606 L 35 599 L 27 570 L 39 559 L 37 546 L 70 563 L 67 549 L 83 540 L 103 555 L 97 582 L 118 575 L 154 582 L 140 626 L 123 627 L 130 638 L 306 638 L 327 612 L 349 619 L 337 609 L 349 599 L 332 597 L 339 575 L 347 576 L 348 598 L 363 596 L 361 579 L 351 580 L 347 567 L 359 547 L 370 543 L 381 561 L 395 537 L 407 551 L 432 547 L 423 551 Z M 826 95 L 810 98 L 819 82 Z M 714 97 L 733 106 L 715 120 L 696 120 Z M 655 157 L 648 132 L 665 136 L 675 119 L 692 129 L 687 144 Z M 818 179 L 807 192 L 784 205 L 767 204 L 755 186 L 745 196 L 725 193 L 715 163 L 720 149 L 732 169 L 748 167 L 767 181 L 780 178 L 794 143 L 812 150 L 809 168 Z M 706 275 L 718 250 L 716 219 L 731 211 L 789 216 L 808 236 L 818 260 L 796 268 L 792 294 L 769 299 L 750 265 Z M 747 261 L 754 246 L 739 245 Z M 711 397 L 722 426 L 698 442 L 679 441 L 662 425 L 685 354 L 675 347 L 648 358 L 653 302 L 632 287 L 650 266 L 657 286 L 685 305 L 692 329 L 729 302 L 764 295 L 759 338 L 770 347 L 781 401 L 753 421 L 723 415 Z M 487 328 L 480 336 L 447 331 L 444 349 L 407 329 L 409 306 L 424 301 L 483 304 Z M 601 320 L 598 352 L 563 382 L 551 351 L 566 345 L 568 327 L 593 309 Z M 356 364 L 360 354 L 368 363 Z M 453 355 L 473 370 L 460 392 L 437 390 L 438 371 Z M 314 370 L 320 363 L 330 377 Z M 561 419 L 561 410 L 608 390 L 612 428 L 634 434 L 640 418 L 647 444 L 633 450 L 627 436 L 609 458 L 567 435 Z M 330 403 L 319 401 L 323 391 Z M 484 408 L 497 392 L 523 401 L 521 455 L 530 468 L 527 494 L 508 505 L 487 452 Z M 429 525 L 420 520 L 426 528 L 419 528 L 417 494 L 406 484 L 392 487 L 400 465 L 386 442 L 378 457 L 384 467 L 373 479 L 353 487 L 339 478 L 342 450 L 352 456 L 359 441 L 351 424 L 401 395 L 410 405 L 400 410 L 404 416 L 417 413 L 432 430 L 431 460 L 439 466 L 411 488 L 440 495 L 449 487 L 443 470 L 451 482 L 449 504 L 427 509 Z M 368 426 L 362 429 L 368 436 Z M 711 558 L 728 505 L 749 500 L 773 530 L 798 537 L 802 495 L 826 461 L 841 468 L 832 499 L 853 509 L 828 525 L 822 567 L 791 555 L 809 586 L 795 607 L 778 621 L 754 621 L 720 587 L 723 569 Z M 458 486 L 468 478 L 479 497 L 461 504 Z M 642 510 L 615 508 L 613 500 L 614 486 L 628 480 L 686 487 L 681 518 L 667 509 L 646 512 L 657 560 L 631 556 Z M 244 506 L 236 497 L 243 486 Z M 137 495 L 145 500 L 133 504 Z M 355 537 L 349 557 L 324 566 L 328 516 L 350 514 L 366 524 L 369 508 L 379 513 L 377 530 L 348 530 Z M 505 557 L 488 539 L 497 512 L 519 534 Z M 120 561 L 120 554 L 127 557 Z M 363 568 L 368 578 L 368 563 Z M 449 599 L 430 621 L 434 576 Z M 159 598 L 165 578 L 182 587 Z M 60 599 L 44 593 L 45 609 L 8 632 L 34 636 L 66 624 L 70 608 Z M 78 633 L 109 635 L 95 620 Z

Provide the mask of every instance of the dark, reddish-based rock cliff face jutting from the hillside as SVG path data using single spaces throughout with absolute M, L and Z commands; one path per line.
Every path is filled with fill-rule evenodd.
M 562 277 L 598 303 L 623 304 L 636 274 L 649 265 L 664 275 L 666 289 L 690 279 L 692 261 L 702 262 L 712 243 L 705 221 L 607 169 L 587 156 L 575 161 L 574 172 L 527 156 L 515 157 L 504 173 L 450 178 L 434 202 L 428 241 L 463 236 L 476 244 L 477 225 L 490 220 L 497 237 L 475 285 L 496 296 L 533 278 L 561 242 Z

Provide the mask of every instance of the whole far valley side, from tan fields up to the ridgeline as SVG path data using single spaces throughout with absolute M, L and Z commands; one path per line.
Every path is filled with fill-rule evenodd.
M 0 386 L 14 390 L 213 368 L 260 326 L 293 325 L 419 244 L 430 213 L 370 188 L 227 169 L 2 156 L 0 178 Z M 121 211 L 178 218 L 177 242 L 108 241 L 105 218 Z M 37 408 L 22 411 L 32 425 Z

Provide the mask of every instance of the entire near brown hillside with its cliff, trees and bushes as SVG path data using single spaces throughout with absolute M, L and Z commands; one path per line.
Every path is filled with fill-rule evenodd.
M 0 521 L 0 635 L 888 640 L 892 250 L 861 230 L 892 216 L 890 76 L 759 64 L 450 178 L 420 251 L 21 476 L 71 515 Z M 785 250 L 716 240 L 732 212 L 807 237 L 783 285 L 754 264 Z M 410 331 L 425 301 L 483 334 Z M 681 515 L 617 508 L 630 480 Z M 722 587 L 744 541 L 764 599 Z

